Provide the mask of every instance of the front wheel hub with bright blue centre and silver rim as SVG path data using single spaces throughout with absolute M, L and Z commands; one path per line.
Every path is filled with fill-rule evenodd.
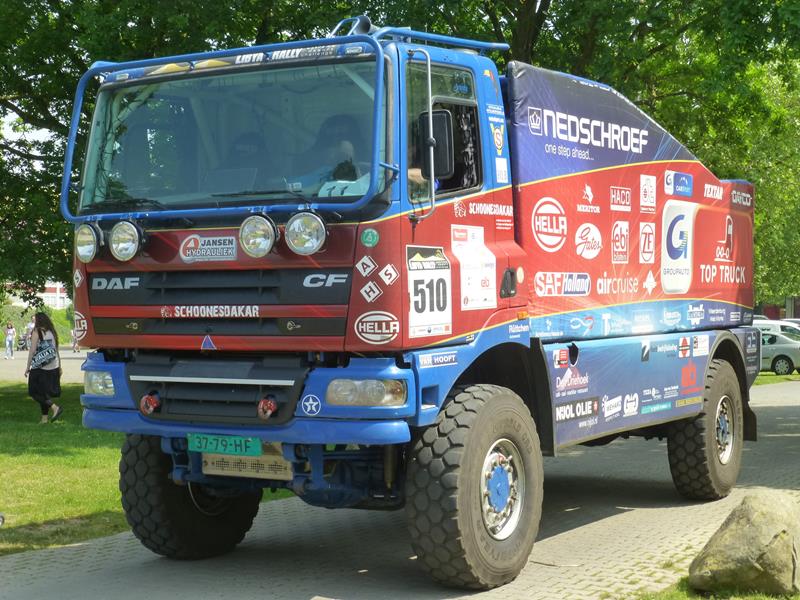
M 504 540 L 516 529 L 522 513 L 525 472 L 514 443 L 492 444 L 481 471 L 481 514 L 493 538 Z

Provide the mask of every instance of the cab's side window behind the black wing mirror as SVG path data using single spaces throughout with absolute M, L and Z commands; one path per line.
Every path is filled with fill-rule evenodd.
M 467 190 L 482 183 L 478 106 L 472 73 L 464 69 L 431 68 L 434 110 L 446 110 L 453 122 L 453 175 L 435 182 L 436 195 Z M 409 62 L 406 72 L 408 127 L 408 189 L 412 201 L 428 197 L 428 180 L 422 176 L 427 152 L 420 131 L 420 115 L 427 111 L 427 68 L 424 63 Z

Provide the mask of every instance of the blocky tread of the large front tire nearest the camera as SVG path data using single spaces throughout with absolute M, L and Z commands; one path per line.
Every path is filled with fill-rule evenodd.
M 444 585 L 488 589 L 508 583 L 484 581 L 467 562 L 457 522 L 458 473 L 467 434 L 496 385 L 456 386 L 436 423 L 411 442 L 406 478 L 406 516 L 411 545 L 434 580 Z M 537 440 L 538 441 L 538 440 Z

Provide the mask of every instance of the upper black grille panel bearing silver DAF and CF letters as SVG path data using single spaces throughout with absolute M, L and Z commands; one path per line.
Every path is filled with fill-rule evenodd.
M 347 304 L 352 270 L 273 269 L 92 273 L 95 306 Z

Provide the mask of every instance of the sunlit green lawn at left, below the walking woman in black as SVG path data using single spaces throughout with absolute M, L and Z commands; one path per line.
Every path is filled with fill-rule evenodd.
M 117 489 L 124 436 L 81 425 L 82 388 L 64 385 L 61 421 L 39 425 L 27 386 L 0 382 L 0 556 L 128 530 Z

